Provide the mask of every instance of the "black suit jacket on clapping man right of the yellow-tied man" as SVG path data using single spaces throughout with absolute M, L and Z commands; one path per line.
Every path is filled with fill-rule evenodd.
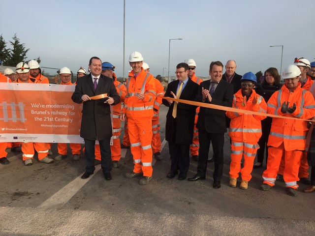
M 202 88 L 209 89 L 210 82 L 211 80 L 207 80 L 199 85 L 198 102 L 202 102 Z M 212 96 L 211 104 L 232 107 L 233 94 L 233 86 L 221 80 Z M 206 99 L 205 103 L 209 103 L 209 100 Z M 226 133 L 225 111 L 200 107 L 196 127 L 209 133 Z

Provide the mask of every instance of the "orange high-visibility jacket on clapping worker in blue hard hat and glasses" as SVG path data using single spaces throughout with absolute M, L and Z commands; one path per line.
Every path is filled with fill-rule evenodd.
M 259 95 L 257 104 L 252 104 L 252 100 L 257 93 L 252 90 L 252 94 L 246 102 L 246 107 L 242 106 L 242 89 L 238 90 L 233 97 L 233 108 L 243 109 L 252 112 L 267 113 L 267 104 L 265 99 Z M 237 112 L 226 112 L 228 118 L 231 118 L 229 136 L 234 142 L 244 142 L 256 144 L 261 136 L 260 120 L 266 116 L 256 116 Z

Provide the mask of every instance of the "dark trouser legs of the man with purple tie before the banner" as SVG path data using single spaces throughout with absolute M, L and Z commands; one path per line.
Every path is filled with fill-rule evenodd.
M 104 140 L 98 140 L 101 154 L 101 167 L 103 173 L 110 173 L 112 170 L 111 167 L 111 151 L 110 151 L 110 138 Z M 95 159 L 95 140 L 84 139 L 85 143 L 85 162 L 86 162 L 86 171 L 94 172 L 94 159 Z

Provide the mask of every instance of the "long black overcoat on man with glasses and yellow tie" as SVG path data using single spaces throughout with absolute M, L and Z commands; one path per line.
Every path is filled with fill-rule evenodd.
M 168 84 L 165 92 L 165 97 L 173 97 L 171 91 L 176 94 L 179 80 L 172 81 Z M 194 101 L 198 91 L 198 84 L 191 81 L 189 78 L 187 85 L 182 90 L 180 99 Z M 196 106 L 178 103 L 176 119 L 173 118 L 174 103 L 169 104 L 165 99 L 162 100 L 167 107 L 168 113 L 166 115 L 166 131 L 165 140 L 175 144 L 190 145 L 193 136 L 193 123 L 196 113 Z

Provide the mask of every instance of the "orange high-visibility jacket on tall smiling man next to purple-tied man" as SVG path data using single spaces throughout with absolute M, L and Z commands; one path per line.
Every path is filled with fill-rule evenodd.
M 153 75 L 141 71 L 134 78 L 133 70 L 128 75 L 126 84 L 127 95 L 125 104 L 127 107 L 126 115 L 130 118 L 151 118 L 153 117 L 153 104 L 156 96 L 156 87 Z M 137 98 L 138 92 L 144 93 L 144 99 Z

